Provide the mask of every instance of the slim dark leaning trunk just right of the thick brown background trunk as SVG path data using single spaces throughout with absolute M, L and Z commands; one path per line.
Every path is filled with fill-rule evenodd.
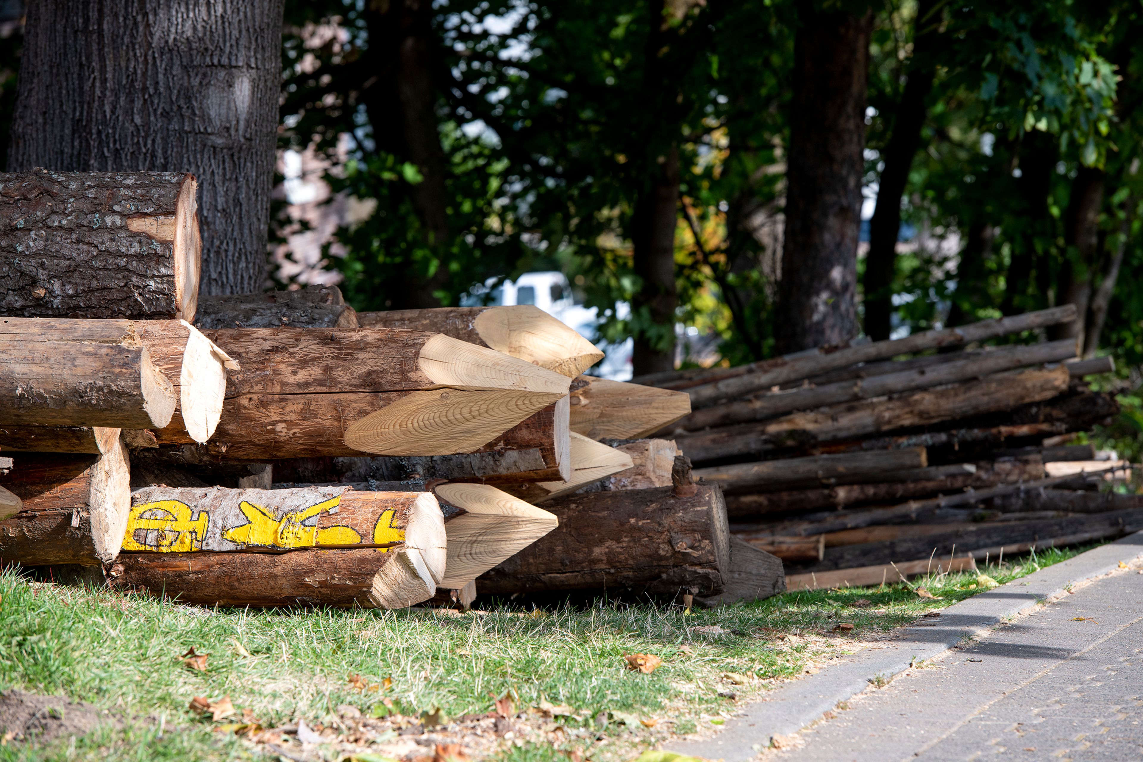
M 897 234 L 901 230 L 901 195 L 909 181 L 909 168 L 920 144 L 925 122 L 925 101 L 933 90 L 934 64 L 924 57 L 932 47 L 936 24 L 935 0 L 917 7 L 913 65 L 893 122 L 893 136 L 885 149 L 877 192 L 877 208 L 869 226 L 869 254 L 865 256 L 865 334 L 874 342 L 889 338 L 893 276 L 897 263 Z

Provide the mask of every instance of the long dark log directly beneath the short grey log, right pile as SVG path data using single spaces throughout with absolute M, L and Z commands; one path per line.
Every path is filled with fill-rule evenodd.
M 972 466 L 965 468 L 964 466 Z M 909 470 L 914 471 L 914 470 Z M 981 489 L 996 484 L 1044 479 L 1039 458 L 1018 458 L 977 464 L 929 466 L 925 473 L 905 474 L 908 479 L 872 483 L 837 484 L 828 488 L 802 489 L 751 495 L 728 495 L 727 515 L 734 518 L 813 511 L 815 508 L 862 505 L 866 503 L 896 503 L 929 495 L 948 495 L 965 489 Z M 901 475 L 893 474 L 894 476 Z

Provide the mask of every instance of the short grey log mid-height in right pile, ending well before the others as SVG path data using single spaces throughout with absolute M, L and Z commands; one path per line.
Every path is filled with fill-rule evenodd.
M 740 463 L 729 466 L 696 468 L 695 476 L 718 482 L 728 492 L 746 492 L 808 479 L 837 479 L 855 474 L 882 474 L 896 468 L 924 468 L 928 465 L 922 447 L 906 450 L 817 455 L 808 458 L 785 458 Z

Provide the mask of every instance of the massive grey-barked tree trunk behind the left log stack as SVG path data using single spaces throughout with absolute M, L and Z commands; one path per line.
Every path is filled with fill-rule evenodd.
M 30 5 L 9 170 L 189 171 L 203 294 L 263 287 L 282 0 Z

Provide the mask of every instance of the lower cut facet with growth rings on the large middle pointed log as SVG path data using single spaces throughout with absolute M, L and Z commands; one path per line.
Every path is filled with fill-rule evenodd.
M 374 455 L 472 452 L 562 396 L 455 388 L 413 392 L 351 424 L 345 446 Z

